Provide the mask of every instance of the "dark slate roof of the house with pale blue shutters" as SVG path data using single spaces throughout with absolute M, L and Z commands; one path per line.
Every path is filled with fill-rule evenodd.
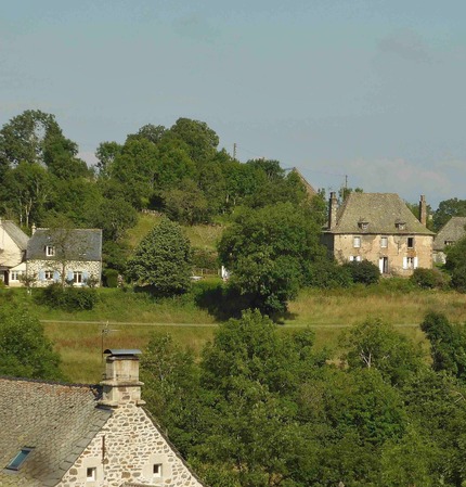
M 54 246 L 55 256 L 48 257 L 46 247 Z M 101 260 L 102 230 L 100 229 L 47 229 L 39 228 L 29 239 L 27 260 Z

